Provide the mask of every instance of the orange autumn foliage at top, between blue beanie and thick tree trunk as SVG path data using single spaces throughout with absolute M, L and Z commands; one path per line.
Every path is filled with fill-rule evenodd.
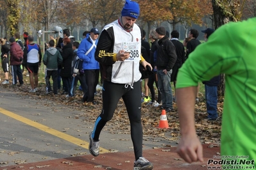
M 156 23 L 158 27 L 163 21 L 169 22 L 173 29 L 176 29 L 178 23 L 188 26 L 192 23 L 201 24 L 202 18 L 212 13 L 210 0 L 138 0 L 138 3 L 141 7 L 140 20 L 148 23 L 148 30 L 153 23 Z

